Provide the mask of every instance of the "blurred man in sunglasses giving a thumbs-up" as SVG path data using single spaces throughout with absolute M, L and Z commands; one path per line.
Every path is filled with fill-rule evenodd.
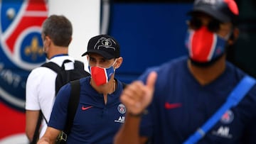
M 255 79 L 225 60 L 238 37 L 238 6 L 196 0 L 188 14 L 188 57 L 150 68 L 124 89 L 127 114 L 114 144 L 256 143 Z

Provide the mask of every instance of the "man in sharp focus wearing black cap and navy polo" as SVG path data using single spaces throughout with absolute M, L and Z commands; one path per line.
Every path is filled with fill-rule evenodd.
M 123 83 L 114 78 L 122 65 L 120 47 L 110 35 L 97 35 L 87 45 L 91 77 L 80 79 L 80 101 L 67 143 L 112 143 L 114 134 L 124 123 L 126 109 L 119 100 Z M 54 143 L 67 120 L 70 84 L 56 96 L 45 135 L 38 143 Z

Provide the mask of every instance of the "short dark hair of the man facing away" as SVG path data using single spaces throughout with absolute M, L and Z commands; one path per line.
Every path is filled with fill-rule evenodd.
M 42 33 L 50 37 L 58 46 L 68 47 L 72 39 L 73 28 L 65 16 L 51 15 L 43 22 Z

